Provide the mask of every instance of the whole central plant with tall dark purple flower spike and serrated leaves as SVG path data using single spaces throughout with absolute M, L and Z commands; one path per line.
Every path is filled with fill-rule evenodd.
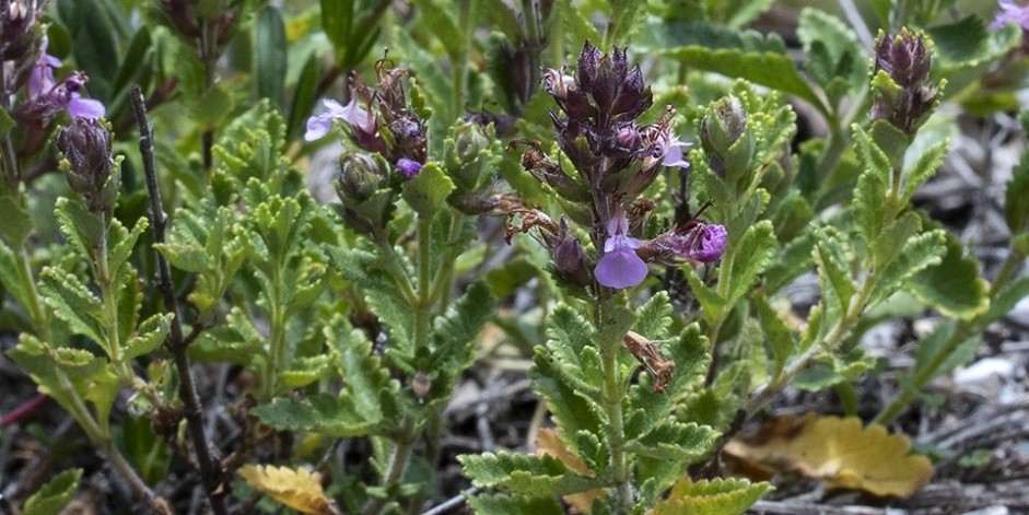
M 561 459 L 498 453 L 460 460 L 473 484 L 507 492 L 472 498 L 480 513 L 561 513 L 553 495 L 580 492 L 595 493 L 595 513 L 636 513 L 680 480 L 687 465 L 714 449 L 717 431 L 676 414 L 706 371 L 710 351 L 699 327 L 668 338 L 668 296 L 654 295 L 633 309 L 624 292 L 644 281 L 647 262 L 717 261 L 726 231 L 697 218 L 664 232 L 647 223 L 655 208 L 652 184 L 666 167 L 689 164 L 685 143 L 673 131 L 675 109 L 666 107 L 653 124 L 638 120 L 651 107 L 652 94 L 624 49 L 604 54 L 587 42 L 576 75 L 563 68 L 545 70 L 543 87 L 559 107 L 551 120 L 560 155 L 551 159 L 538 143 L 525 142 L 522 163 L 560 198 L 572 223 L 516 203 L 502 209 L 510 233 L 538 231 L 553 254 L 554 277 L 580 297 L 554 308 L 548 341 L 537 347 L 530 372 L 566 454 Z M 647 374 L 636 383 L 640 364 Z M 708 487 L 677 490 L 678 496 Z M 730 481 L 714 489 L 727 494 L 723 508 L 732 511 L 768 487 Z

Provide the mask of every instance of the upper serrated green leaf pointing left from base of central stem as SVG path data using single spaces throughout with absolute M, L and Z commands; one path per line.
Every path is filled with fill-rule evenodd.
M 461 471 L 478 488 L 502 488 L 516 494 L 551 496 L 582 492 L 597 483 L 570 471 L 560 459 L 545 454 L 486 453 L 457 457 Z

